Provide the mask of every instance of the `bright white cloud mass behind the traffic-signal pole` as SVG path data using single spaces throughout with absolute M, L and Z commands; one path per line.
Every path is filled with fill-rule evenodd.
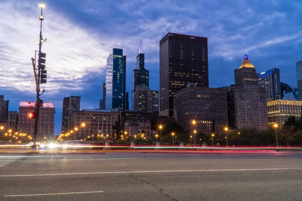
M 0 85 L 12 87 L 18 84 L 18 90 L 34 91 L 31 57 L 38 49 L 39 10 L 24 2 L 19 2 L 17 8 L 14 5 L 6 2 L 0 7 Z M 42 44 L 42 51 L 47 55 L 45 87 L 50 93 L 55 94 L 66 86 L 82 89 L 82 78 L 89 72 L 104 73 L 109 47 L 100 45 L 99 36 L 51 9 L 45 9 L 43 16 L 42 35 L 47 38 Z M 28 65 L 2 64 L 8 62 Z

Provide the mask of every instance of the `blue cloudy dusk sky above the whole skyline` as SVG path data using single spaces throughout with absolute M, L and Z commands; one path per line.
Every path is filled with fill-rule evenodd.
M 0 94 L 9 110 L 35 102 L 31 57 L 38 50 L 39 1 L 0 0 Z M 63 97 L 81 96 L 81 110 L 99 108 L 106 59 L 112 48 L 127 56 L 126 90 L 142 37 L 150 88 L 159 90 L 159 41 L 168 32 L 208 38 L 209 86 L 234 84 L 234 70 L 248 54 L 257 72 L 280 69 L 297 86 L 302 60 L 300 0 L 48 0 L 42 45 L 47 83 L 41 99 L 55 107 L 60 134 Z M 130 104 L 131 105 L 131 104 Z

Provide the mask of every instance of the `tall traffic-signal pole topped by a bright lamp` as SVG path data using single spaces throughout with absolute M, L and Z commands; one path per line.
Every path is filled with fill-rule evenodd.
M 38 51 L 38 66 L 36 68 L 36 60 L 32 58 L 33 68 L 34 68 L 34 74 L 35 74 L 35 81 L 36 81 L 36 105 L 35 105 L 35 127 L 34 127 L 34 136 L 33 136 L 33 149 L 37 148 L 37 133 L 38 133 L 38 120 L 39 120 L 39 112 L 40 112 L 40 106 L 43 105 L 43 100 L 40 99 L 40 83 L 46 83 L 47 78 L 47 70 L 45 70 L 45 62 L 46 62 L 46 54 L 42 53 L 42 43 L 44 41 L 42 37 L 42 21 L 44 20 L 43 17 L 43 9 L 45 8 L 44 4 L 39 4 L 39 7 L 41 9 L 41 16 L 39 17 L 40 23 L 40 35 L 39 35 L 39 51 Z M 35 62 L 34 62 L 35 60 Z M 44 90 L 42 94 L 44 93 Z

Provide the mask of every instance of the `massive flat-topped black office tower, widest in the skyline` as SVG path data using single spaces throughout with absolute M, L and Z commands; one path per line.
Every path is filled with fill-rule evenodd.
M 209 86 L 207 38 L 168 33 L 160 40 L 160 116 L 173 116 L 173 94 Z

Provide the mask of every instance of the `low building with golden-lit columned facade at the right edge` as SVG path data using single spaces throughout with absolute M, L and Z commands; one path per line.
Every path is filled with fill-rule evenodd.
M 300 118 L 301 107 L 302 101 L 298 100 L 274 100 L 267 102 L 269 126 L 278 124 L 282 127 L 290 116 Z

